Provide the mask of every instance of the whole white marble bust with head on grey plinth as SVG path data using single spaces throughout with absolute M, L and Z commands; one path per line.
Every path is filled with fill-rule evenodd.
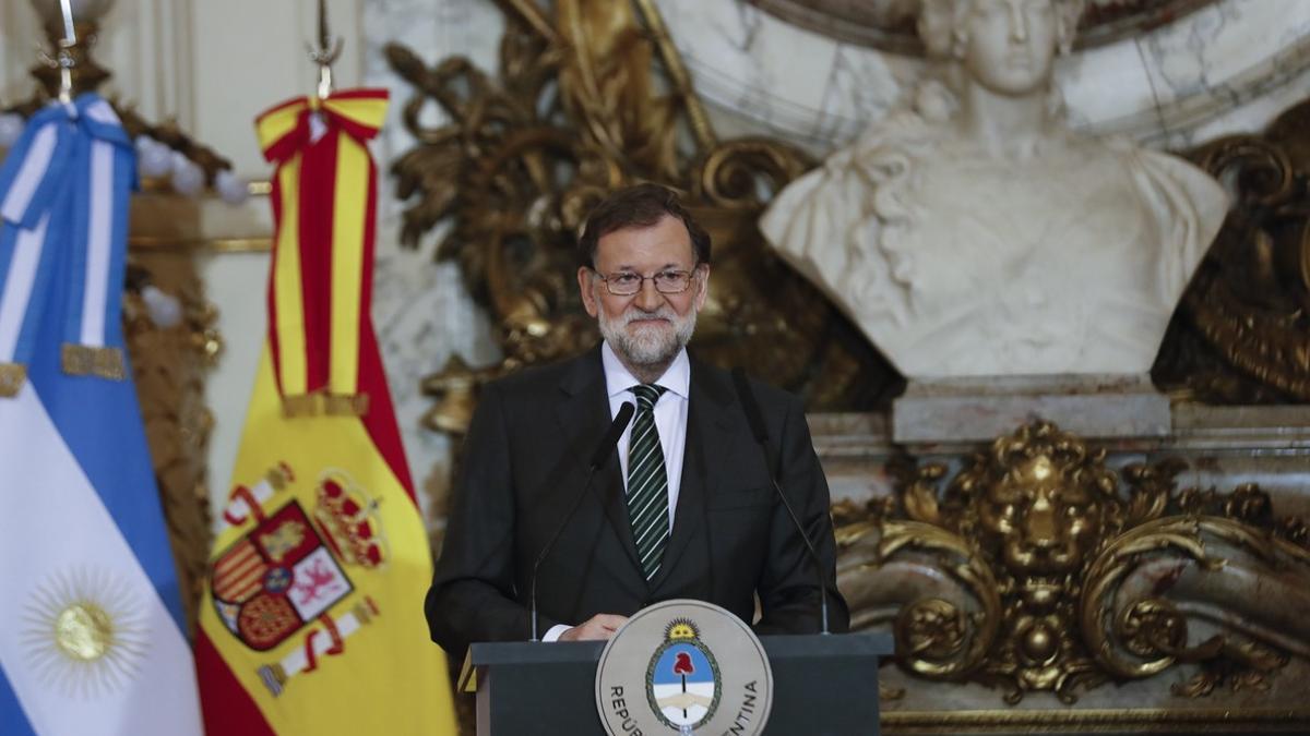
M 1073 132 L 1081 0 L 922 0 L 913 100 L 761 230 L 912 380 L 1144 375 L 1227 198 L 1182 158 Z

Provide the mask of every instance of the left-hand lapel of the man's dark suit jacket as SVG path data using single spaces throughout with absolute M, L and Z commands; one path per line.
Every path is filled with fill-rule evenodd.
M 609 394 L 605 390 L 605 372 L 600 361 L 600 346 L 574 363 L 559 382 L 561 399 L 555 416 L 563 432 L 571 436 L 570 448 L 586 477 L 596 443 L 605 435 L 609 423 Z M 622 470 L 618 457 L 612 453 L 605 466 L 592 479 L 592 495 L 600 500 L 614 534 L 633 563 L 633 572 L 641 578 L 637 542 L 627 520 L 627 502 L 624 498 Z

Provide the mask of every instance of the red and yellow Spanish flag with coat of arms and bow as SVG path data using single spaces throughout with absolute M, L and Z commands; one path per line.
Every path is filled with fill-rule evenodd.
M 211 735 L 455 733 L 431 553 L 369 318 L 385 90 L 257 122 L 276 165 L 269 333 L 195 659 Z

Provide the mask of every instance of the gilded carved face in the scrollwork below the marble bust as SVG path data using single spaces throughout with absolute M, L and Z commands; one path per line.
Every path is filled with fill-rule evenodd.
M 1019 576 L 1076 571 L 1103 524 L 1094 492 L 1044 454 L 992 485 L 979 519 L 1000 537 L 1002 559 Z

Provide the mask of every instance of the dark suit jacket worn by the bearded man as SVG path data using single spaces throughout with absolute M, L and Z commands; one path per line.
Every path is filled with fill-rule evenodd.
M 686 451 L 659 572 L 637 562 L 617 453 L 596 473 L 537 576 L 538 631 L 597 613 L 631 616 L 669 598 L 718 604 L 760 634 L 817 633 L 819 583 L 769 482 L 728 373 L 690 361 Z M 781 483 L 833 580 L 828 483 L 800 402 L 752 382 Z M 424 609 L 432 640 L 462 657 L 472 642 L 529 636 L 532 564 L 587 483 L 609 428 L 600 350 L 489 384 L 464 445 L 445 543 Z M 672 469 L 671 469 L 672 471 Z M 829 592 L 829 622 L 848 627 Z

